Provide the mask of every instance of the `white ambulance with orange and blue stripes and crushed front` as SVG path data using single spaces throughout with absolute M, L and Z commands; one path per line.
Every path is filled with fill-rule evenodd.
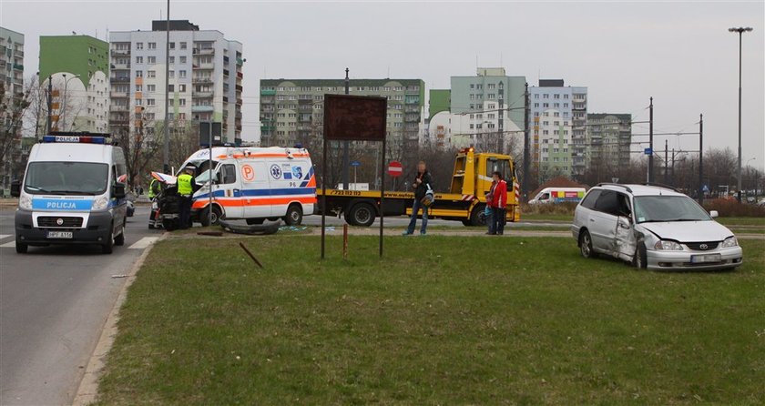
M 194 193 L 191 218 L 203 226 L 220 218 L 245 219 L 250 225 L 281 218 L 298 225 L 313 213 L 316 178 L 304 148 L 212 147 L 199 149 L 179 170 L 188 165 L 197 168 L 195 180 L 201 185 Z

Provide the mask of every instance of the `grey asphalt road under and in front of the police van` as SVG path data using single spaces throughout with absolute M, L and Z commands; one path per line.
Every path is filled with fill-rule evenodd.
M 148 208 L 128 218 L 126 243 L 30 247 L 15 253 L 14 211 L 0 208 L 0 404 L 70 404 L 127 273 L 159 232 Z

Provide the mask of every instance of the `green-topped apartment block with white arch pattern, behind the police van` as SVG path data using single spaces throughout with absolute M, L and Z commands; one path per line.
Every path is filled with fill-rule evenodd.
M 53 81 L 51 129 L 108 131 L 109 45 L 92 36 L 40 36 L 40 86 Z

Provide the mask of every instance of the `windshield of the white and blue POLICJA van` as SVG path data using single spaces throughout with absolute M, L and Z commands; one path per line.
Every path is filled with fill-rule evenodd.
M 102 195 L 108 180 L 107 164 L 32 162 L 26 169 L 24 191 L 33 195 Z

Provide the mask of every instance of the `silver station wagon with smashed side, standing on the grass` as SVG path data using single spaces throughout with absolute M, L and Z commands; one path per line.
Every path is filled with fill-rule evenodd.
M 585 258 L 642 269 L 736 268 L 739 241 L 717 216 L 672 188 L 601 183 L 576 206 L 571 232 Z

